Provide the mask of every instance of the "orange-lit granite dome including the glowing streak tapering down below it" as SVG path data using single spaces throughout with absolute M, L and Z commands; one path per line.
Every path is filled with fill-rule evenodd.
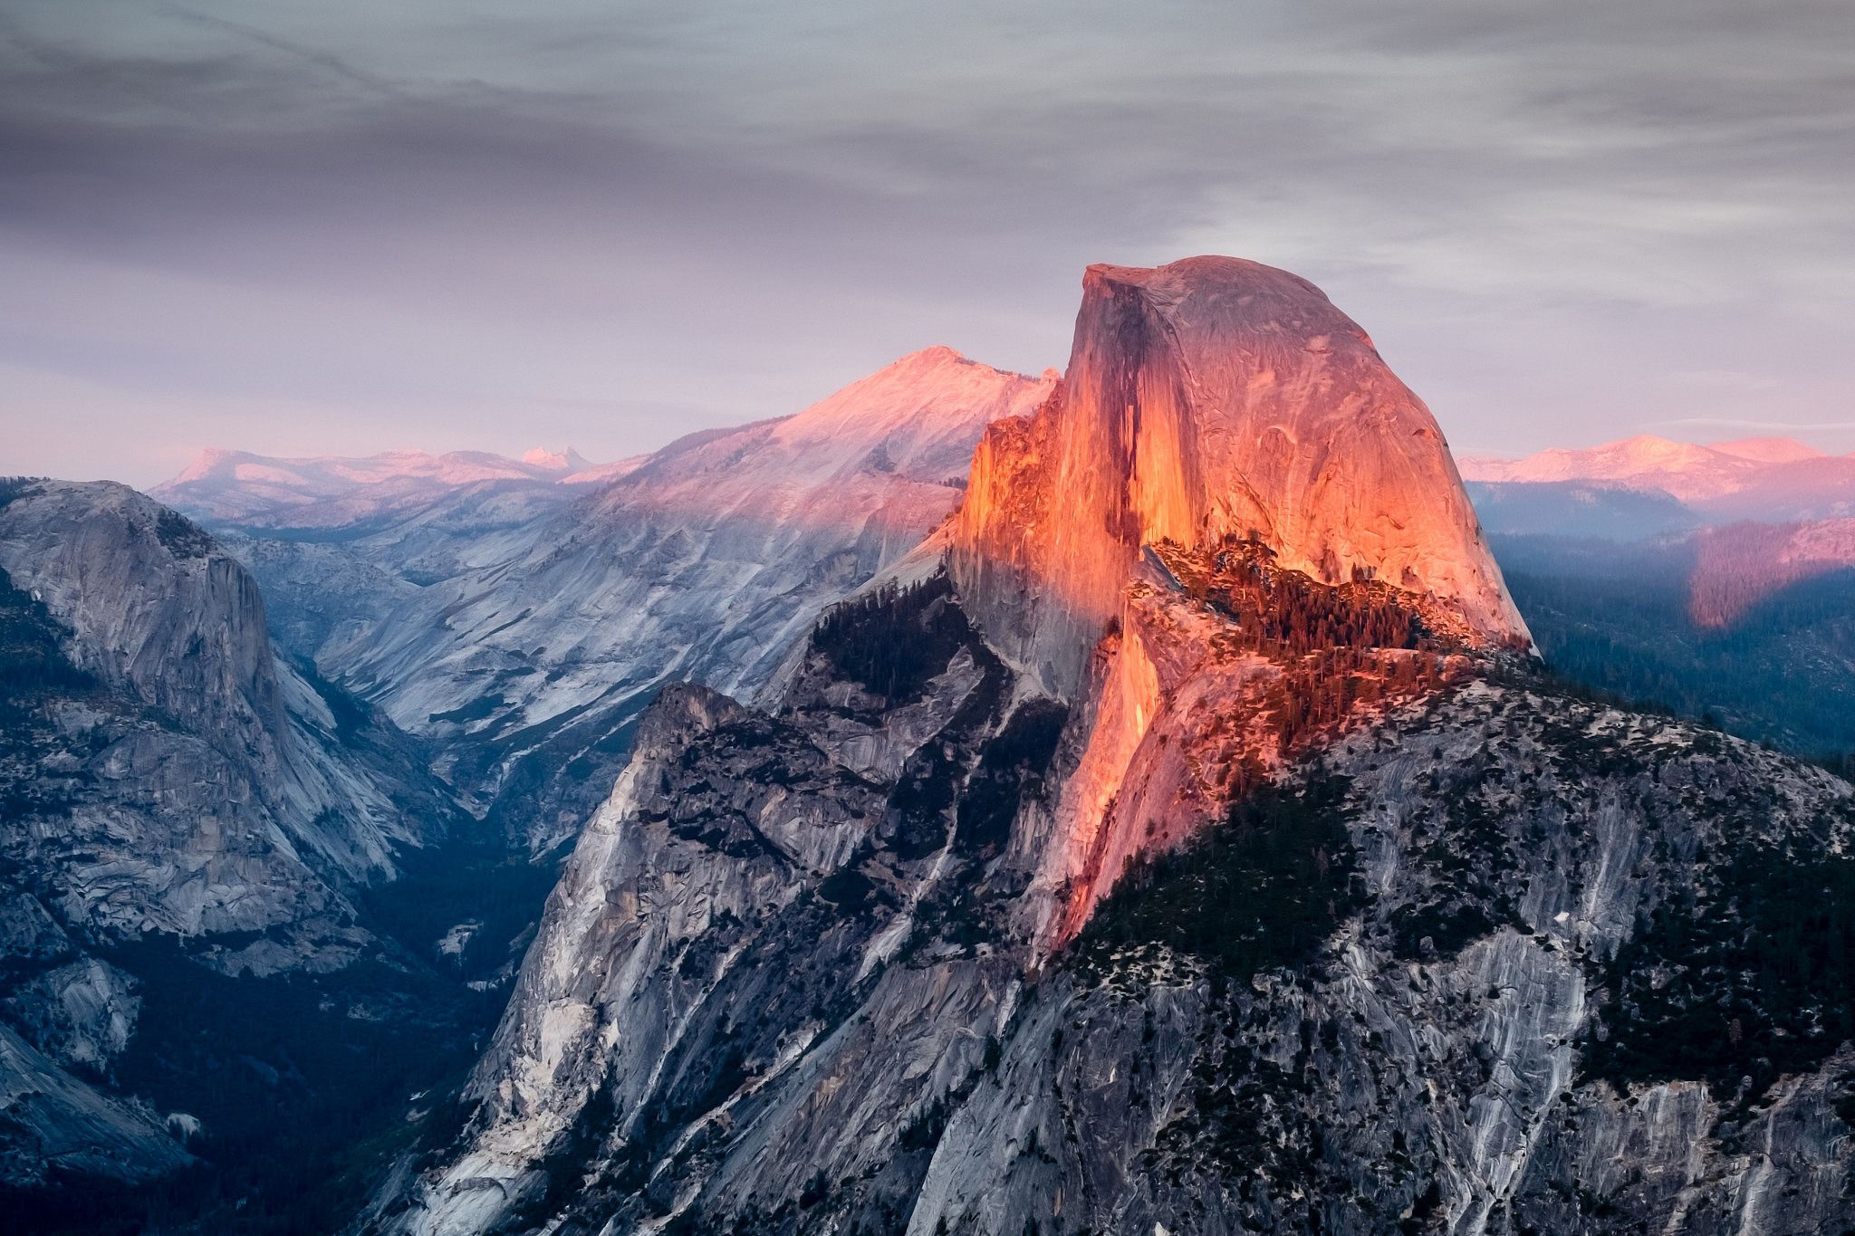
M 1454 615 L 1462 647 L 1530 643 L 1423 402 L 1317 287 L 1234 258 L 1091 267 L 1063 387 L 987 434 L 950 539 L 992 645 L 1093 726 L 1033 884 L 1043 947 L 1130 856 L 1206 819 L 1187 765 L 1228 788 L 1234 762 L 1282 758 L 1243 719 L 1286 669 L 1180 637 L 1143 547 L 1241 539 L 1276 578 L 1375 580 L 1432 626 Z

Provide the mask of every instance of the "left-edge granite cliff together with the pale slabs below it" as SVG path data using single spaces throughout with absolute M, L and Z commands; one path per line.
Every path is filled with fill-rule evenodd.
M 343 969 L 382 951 L 354 893 L 456 817 L 403 734 L 276 656 L 197 524 L 122 486 L 6 482 L 0 1179 L 189 1162 L 113 1093 L 147 990 L 115 960 L 163 941 L 182 990 Z

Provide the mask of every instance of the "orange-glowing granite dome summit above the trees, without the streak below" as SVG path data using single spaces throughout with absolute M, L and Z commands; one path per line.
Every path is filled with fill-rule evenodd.
M 1386 580 L 1530 643 L 1436 419 L 1319 287 L 1237 258 L 1089 267 L 1063 385 L 974 456 L 961 595 L 1072 697 L 1141 545 L 1252 532 L 1286 569 Z

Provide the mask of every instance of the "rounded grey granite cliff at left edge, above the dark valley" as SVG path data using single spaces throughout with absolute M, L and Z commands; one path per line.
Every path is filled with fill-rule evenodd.
M 339 917 L 339 888 L 441 836 L 417 767 L 278 663 L 252 578 L 174 511 L 32 482 L 0 508 L 0 569 L 9 617 L 69 671 L 20 697 L 6 752 L 7 858 L 69 923 L 122 940 Z

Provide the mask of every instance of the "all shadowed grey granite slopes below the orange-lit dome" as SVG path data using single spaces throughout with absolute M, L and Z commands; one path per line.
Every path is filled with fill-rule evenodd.
M 1319 849 L 1287 834 L 1258 858 L 1245 821 L 1209 858 L 1193 839 L 1171 865 L 1135 856 L 1052 951 L 1024 901 L 1080 717 L 1028 741 L 1046 700 L 983 645 L 928 643 L 935 673 L 905 699 L 816 649 L 777 715 L 664 695 L 549 902 L 473 1117 L 362 1230 L 1788 1232 L 1855 1214 L 1855 1054 L 1810 1032 L 1829 1006 L 1716 975 L 1733 1038 L 1712 1003 L 1645 995 L 1718 969 L 1668 923 L 1740 914 L 1746 871 L 1846 878 L 1846 784 L 1490 667 L 1354 713 L 1250 789 L 1319 802 Z M 840 713 L 879 734 L 924 702 L 940 728 L 900 776 L 833 754 L 859 749 Z M 1202 830 L 1226 812 L 1206 804 Z M 1248 882 L 1202 891 L 1232 869 Z M 1313 925 L 1300 945 L 1269 943 L 1284 904 Z M 1694 1054 L 1655 1058 L 1684 1034 Z

